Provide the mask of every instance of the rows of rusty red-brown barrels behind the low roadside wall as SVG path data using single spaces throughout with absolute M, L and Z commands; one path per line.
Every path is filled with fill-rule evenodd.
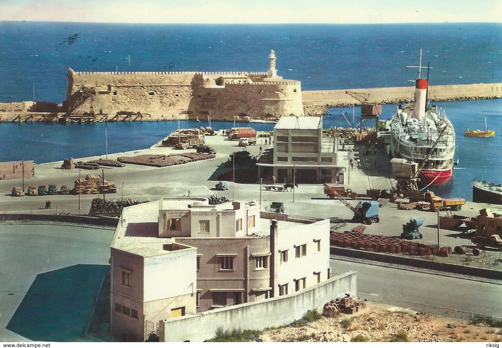
M 437 245 L 429 245 L 399 237 L 381 236 L 381 235 L 365 235 L 358 232 L 331 232 L 330 245 L 340 248 L 357 249 L 363 251 L 391 254 L 408 254 L 408 255 L 438 255 L 447 257 L 452 253 L 451 247 L 438 247 Z

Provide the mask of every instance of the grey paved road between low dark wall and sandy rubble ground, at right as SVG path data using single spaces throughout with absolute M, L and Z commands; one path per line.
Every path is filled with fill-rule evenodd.
M 361 299 L 444 316 L 502 317 L 502 285 L 333 259 L 330 264 L 333 273 L 357 271 Z

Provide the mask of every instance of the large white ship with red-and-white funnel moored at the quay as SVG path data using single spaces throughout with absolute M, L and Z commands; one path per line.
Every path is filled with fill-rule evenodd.
M 426 79 L 415 81 L 415 102 L 399 105 L 391 119 L 391 154 L 418 163 L 420 186 L 439 185 L 453 175 L 455 131 L 441 111 L 427 105 Z M 427 159 L 428 153 L 431 152 Z

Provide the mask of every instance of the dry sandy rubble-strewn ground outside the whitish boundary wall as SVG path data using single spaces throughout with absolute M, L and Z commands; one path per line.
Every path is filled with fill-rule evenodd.
M 343 323 L 352 319 L 350 326 Z M 343 322 L 342 322 L 343 321 Z M 349 342 L 362 335 L 370 341 L 391 341 L 404 331 L 409 342 L 498 342 L 502 329 L 482 324 L 470 325 L 466 320 L 430 316 L 399 307 L 366 302 L 366 307 L 352 314 L 323 317 L 303 327 L 285 327 L 262 332 L 265 342 Z

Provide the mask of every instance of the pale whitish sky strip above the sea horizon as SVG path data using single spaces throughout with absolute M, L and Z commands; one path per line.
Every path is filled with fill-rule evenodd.
M 502 0 L 0 0 L 0 21 L 501 23 Z

